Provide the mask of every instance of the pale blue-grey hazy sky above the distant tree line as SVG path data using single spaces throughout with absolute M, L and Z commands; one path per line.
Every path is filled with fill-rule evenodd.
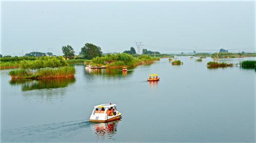
M 254 1 L 1 1 L 1 54 L 255 52 Z

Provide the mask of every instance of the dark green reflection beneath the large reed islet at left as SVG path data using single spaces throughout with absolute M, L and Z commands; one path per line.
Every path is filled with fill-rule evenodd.
M 49 89 L 67 87 L 69 84 L 75 83 L 75 78 L 59 78 L 59 79 L 11 79 L 10 85 L 22 85 L 22 91 L 35 90 L 35 89 Z

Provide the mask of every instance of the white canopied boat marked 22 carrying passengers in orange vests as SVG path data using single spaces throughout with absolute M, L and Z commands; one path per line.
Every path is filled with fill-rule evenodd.
M 91 122 L 109 122 L 118 120 L 121 113 L 117 110 L 116 104 L 101 104 L 94 106 L 94 110 L 90 116 Z

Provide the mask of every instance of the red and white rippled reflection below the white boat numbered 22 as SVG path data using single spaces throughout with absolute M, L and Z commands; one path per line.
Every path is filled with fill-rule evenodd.
M 95 132 L 96 137 L 99 138 L 109 138 L 109 139 L 115 139 L 114 135 L 117 132 L 117 125 L 119 120 L 113 121 L 113 122 L 106 122 L 106 123 L 92 123 L 92 130 Z

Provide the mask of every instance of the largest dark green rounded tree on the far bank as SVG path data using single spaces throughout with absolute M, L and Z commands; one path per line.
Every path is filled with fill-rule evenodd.
M 94 57 L 101 57 L 102 51 L 99 46 L 96 46 L 92 43 L 86 43 L 81 48 L 80 55 L 83 55 L 86 59 L 92 59 Z

